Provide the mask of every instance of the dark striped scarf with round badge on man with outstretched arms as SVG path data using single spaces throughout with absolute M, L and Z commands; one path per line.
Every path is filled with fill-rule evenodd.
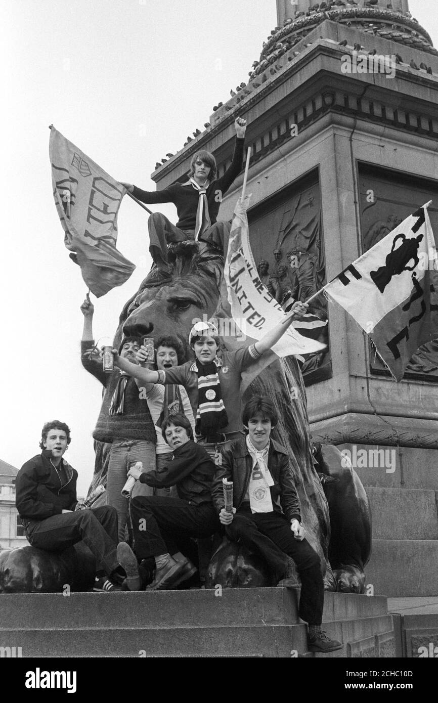
M 208 436 L 228 425 L 228 417 L 221 394 L 221 383 L 217 373 L 222 361 L 217 356 L 211 363 L 195 361 L 190 370 L 198 374 L 198 410 L 196 411 L 196 434 Z

